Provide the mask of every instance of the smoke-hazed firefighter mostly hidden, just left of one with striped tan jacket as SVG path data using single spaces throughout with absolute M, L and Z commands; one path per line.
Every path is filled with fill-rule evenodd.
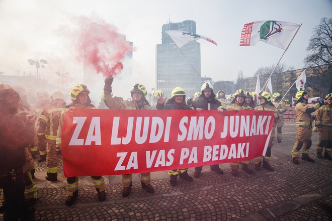
M 46 145 L 40 145 L 38 148 L 38 138 L 37 138 L 37 131 L 38 131 L 38 122 L 39 122 L 39 118 L 41 116 L 41 113 L 44 111 L 44 108 L 49 105 L 50 103 L 50 97 L 49 94 L 46 90 L 39 88 L 36 91 L 36 95 L 35 95 L 35 108 L 34 108 L 34 114 L 37 116 L 37 122 L 35 125 L 35 129 L 36 129 L 36 138 L 35 138 L 35 146 L 34 148 L 31 149 L 32 155 L 33 157 L 35 155 L 38 155 L 39 153 L 39 160 L 37 160 L 38 163 L 44 162 L 46 161 Z

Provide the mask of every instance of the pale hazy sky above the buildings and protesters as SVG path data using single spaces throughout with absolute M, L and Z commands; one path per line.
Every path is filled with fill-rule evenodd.
M 155 81 L 155 46 L 161 43 L 161 26 L 169 22 L 194 20 L 197 34 L 218 43 L 201 44 L 201 74 L 214 81 L 235 80 L 239 70 L 253 76 L 261 66 L 277 63 L 283 50 L 258 42 L 256 46 L 239 46 L 242 27 L 260 20 L 277 20 L 301 24 L 299 32 L 281 62 L 303 68 L 306 47 L 312 29 L 323 17 L 330 18 L 332 1 L 45 1 L 0 0 L 0 71 L 32 73 L 29 58 L 49 62 L 40 72 L 47 79 L 55 72 L 69 72 L 81 83 L 82 64 L 72 58 L 66 32 L 72 17 L 105 20 L 133 42 L 133 78 L 149 89 Z M 76 39 L 79 41 L 79 39 Z

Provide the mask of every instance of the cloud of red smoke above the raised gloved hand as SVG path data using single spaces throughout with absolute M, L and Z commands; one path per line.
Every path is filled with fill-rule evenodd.
M 85 65 L 92 65 L 97 74 L 113 76 L 123 69 L 122 60 L 132 53 L 132 45 L 125 36 L 104 21 L 92 22 L 87 18 L 78 19 L 79 39 L 78 50 L 80 60 Z

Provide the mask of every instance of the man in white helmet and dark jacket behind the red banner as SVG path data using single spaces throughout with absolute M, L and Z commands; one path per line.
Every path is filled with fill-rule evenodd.
M 193 106 L 197 111 L 204 110 L 218 110 L 218 112 L 223 112 L 224 108 L 222 107 L 219 100 L 215 98 L 213 93 L 213 87 L 210 83 L 205 82 L 201 86 L 201 95 L 196 98 L 190 98 L 187 100 L 187 105 Z M 203 167 L 195 167 L 194 177 L 198 178 L 201 175 Z M 211 165 L 210 169 L 215 171 L 218 174 L 223 174 L 224 172 L 219 168 L 219 165 Z

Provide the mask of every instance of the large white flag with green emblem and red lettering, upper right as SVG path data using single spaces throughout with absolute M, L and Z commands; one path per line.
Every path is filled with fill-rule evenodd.
M 240 46 L 256 45 L 258 41 L 287 50 L 301 25 L 282 21 L 256 21 L 245 24 Z

